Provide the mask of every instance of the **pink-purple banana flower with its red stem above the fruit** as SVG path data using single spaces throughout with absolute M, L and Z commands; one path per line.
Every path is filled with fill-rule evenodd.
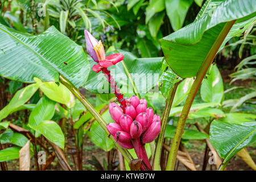
M 93 65 L 92 70 L 96 73 L 102 71 L 105 77 L 107 78 L 110 88 L 112 88 L 115 97 L 117 97 L 117 101 L 121 104 L 121 108 L 125 111 L 126 102 L 123 98 L 123 94 L 120 93 L 120 89 L 117 88 L 117 84 L 115 83 L 113 77 L 110 75 L 110 71 L 108 67 L 117 64 L 119 61 L 123 60 L 123 55 L 121 53 L 114 53 L 113 55 L 109 55 L 105 57 L 105 50 L 103 44 L 97 39 L 95 39 L 90 32 L 87 30 L 84 31 L 85 42 L 86 42 L 86 51 L 92 57 L 92 59 L 98 63 Z

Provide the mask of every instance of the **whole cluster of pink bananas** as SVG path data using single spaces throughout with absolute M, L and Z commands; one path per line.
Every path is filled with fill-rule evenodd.
M 125 113 L 114 102 L 109 104 L 109 113 L 115 123 L 109 123 L 107 129 L 113 135 L 119 146 L 127 149 L 134 148 L 134 139 L 140 139 L 142 144 L 150 143 L 161 130 L 159 115 L 147 107 L 146 99 L 139 100 L 137 96 L 127 101 Z

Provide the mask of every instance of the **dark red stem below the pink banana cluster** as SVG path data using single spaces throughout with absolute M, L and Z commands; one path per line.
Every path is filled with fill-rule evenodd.
M 145 144 L 141 143 L 141 138 L 132 139 L 131 141 L 133 142 L 134 150 L 137 154 L 137 157 L 139 159 L 143 159 L 143 162 L 146 164 L 146 166 L 152 170 L 151 165 L 150 165 L 150 161 L 147 158 L 147 152 L 145 150 Z M 146 169 L 142 165 L 141 165 L 141 168 L 142 168 L 143 171 L 146 171 Z

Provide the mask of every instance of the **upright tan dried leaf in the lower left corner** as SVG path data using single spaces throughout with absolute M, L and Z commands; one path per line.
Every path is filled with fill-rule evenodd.
M 30 171 L 30 140 L 19 150 L 19 170 Z

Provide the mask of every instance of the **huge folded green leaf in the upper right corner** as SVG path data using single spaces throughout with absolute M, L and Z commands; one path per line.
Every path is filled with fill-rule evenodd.
M 224 30 L 226 22 L 236 19 L 237 22 L 245 21 L 249 15 L 253 17 L 255 11 L 254 0 L 208 0 L 204 3 L 195 22 L 160 39 L 167 63 L 180 77 L 196 76 L 208 53 L 213 49 L 216 52 L 219 48 L 218 44 L 214 43 Z M 255 19 L 256 16 L 250 18 L 247 24 Z M 224 43 L 232 36 L 240 35 L 245 28 L 246 26 L 238 27 L 235 24 Z

